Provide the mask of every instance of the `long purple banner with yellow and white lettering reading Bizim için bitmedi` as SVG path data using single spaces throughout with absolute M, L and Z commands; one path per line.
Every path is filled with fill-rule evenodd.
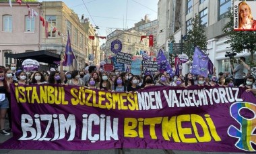
M 12 84 L 13 138 L 0 148 L 255 151 L 255 100 L 245 88 L 230 87 L 121 93 Z

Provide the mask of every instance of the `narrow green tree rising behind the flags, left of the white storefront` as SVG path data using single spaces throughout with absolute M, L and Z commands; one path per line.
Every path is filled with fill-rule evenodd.
M 203 52 L 207 50 L 207 37 L 205 34 L 205 25 L 201 25 L 197 14 L 191 19 L 191 29 L 187 31 L 187 40 L 184 41 L 183 52 L 192 60 L 195 46 L 198 46 Z

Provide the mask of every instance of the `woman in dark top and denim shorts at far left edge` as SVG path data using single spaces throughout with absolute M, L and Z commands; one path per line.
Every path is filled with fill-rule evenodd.
M 5 131 L 5 117 L 7 113 L 7 108 L 9 108 L 9 101 L 7 94 L 9 92 L 9 85 L 5 78 L 5 71 L 0 70 L 0 135 L 10 135 Z

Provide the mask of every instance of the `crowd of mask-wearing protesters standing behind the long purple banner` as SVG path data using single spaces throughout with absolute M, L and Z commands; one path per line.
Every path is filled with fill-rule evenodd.
M 237 71 L 232 68 L 232 71 Z M 242 72 L 243 73 L 243 72 Z M 85 88 L 95 88 L 98 90 L 109 90 L 112 92 L 133 92 L 139 89 L 147 88 L 148 86 L 177 86 L 177 87 L 193 87 L 193 86 L 240 86 L 247 88 L 247 92 L 253 92 L 256 95 L 255 78 L 249 71 L 243 73 L 243 82 L 234 84 L 236 80 L 230 73 L 220 72 L 207 76 L 197 76 L 187 73 L 185 76 L 174 75 L 170 76 L 167 72 L 156 74 L 140 74 L 133 75 L 131 72 L 120 72 L 113 70 L 112 72 L 104 72 L 102 67 L 86 66 L 83 70 L 63 71 L 62 65 L 60 70 L 55 68 L 47 71 L 30 71 L 24 72 L 17 70 L 15 64 L 10 67 L 0 68 L 0 134 L 9 135 L 11 131 L 11 108 L 10 108 L 10 88 L 9 84 L 63 84 L 72 86 L 84 86 Z M 9 117 L 9 129 L 5 130 L 5 117 Z

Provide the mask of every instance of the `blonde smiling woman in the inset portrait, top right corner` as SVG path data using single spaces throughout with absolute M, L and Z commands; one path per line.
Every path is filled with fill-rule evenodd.
M 239 29 L 255 29 L 256 30 L 256 20 L 253 19 L 251 15 L 251 7 L 245 2 L 242 1 L 239 3 Z

